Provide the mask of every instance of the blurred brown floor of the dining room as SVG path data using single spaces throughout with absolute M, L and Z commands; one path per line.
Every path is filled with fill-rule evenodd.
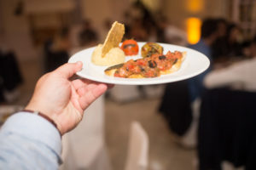
M 42 67 L 38 60 L 20 63 L 25 82 L 20 87 L 20 98 L 13 104 L 26 105 L 32 95 Z M 140 122 L 149 137 L 149 170 L 196 169 L 196 150 L 185 149 L 174 142 L 166 122 L 157 111 L 160 98 L 137 99 L 118 103 L 106 99 L 106 143 L 113 170 L 123 169 L 132 121 Z

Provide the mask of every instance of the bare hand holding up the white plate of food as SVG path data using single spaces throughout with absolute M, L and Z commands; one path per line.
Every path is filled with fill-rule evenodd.
M 26 110 L 49 116 L 61 134 L 76 127 L 84 110 L 108 89 L 108 84 L 87 79 L 70 80 L 82 69 L 82 62 L 61 65 L 41 77 Z

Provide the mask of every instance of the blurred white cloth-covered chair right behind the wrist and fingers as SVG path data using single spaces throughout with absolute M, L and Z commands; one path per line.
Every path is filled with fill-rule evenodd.
M 110 162 L 104 140 L 104 96 L 84 112 L 84 118 L 62 139 L 61 169 L 109 170 Z

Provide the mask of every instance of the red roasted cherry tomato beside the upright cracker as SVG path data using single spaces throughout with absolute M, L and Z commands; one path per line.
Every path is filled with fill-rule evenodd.
M 125 52 L 125 55 L 137 55 L 139 48 L 135 40 L 128 39 L 122 43 L 121 49 Z

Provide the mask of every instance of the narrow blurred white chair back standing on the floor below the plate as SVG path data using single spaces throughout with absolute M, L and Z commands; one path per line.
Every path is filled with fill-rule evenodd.
M 148 167 L 148 134 L 139 122 L 131 123 L 125 170 L 146 170 Z

